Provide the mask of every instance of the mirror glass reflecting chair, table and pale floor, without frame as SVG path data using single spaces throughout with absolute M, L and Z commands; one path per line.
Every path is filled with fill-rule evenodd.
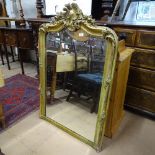
M 46 35 L 46 117 L 94 141 L 105 42 L 84 31 Z

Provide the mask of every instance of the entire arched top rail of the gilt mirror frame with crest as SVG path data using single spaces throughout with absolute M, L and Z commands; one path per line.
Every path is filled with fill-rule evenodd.
M 117 36 L 108 27 L 99 27 L 95 25 L 91 16 L 83 14 L 76 3 L 66 4 L 63 11 L 54 17 L 50 23 L 42 24 L 40 31 L 58 32 L 67 28 L 69 31 L 84 30 L 91 36 L 110 38 L 112 42 L 117 42 Z

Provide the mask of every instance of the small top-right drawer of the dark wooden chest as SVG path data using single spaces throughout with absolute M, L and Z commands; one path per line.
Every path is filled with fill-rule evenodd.
M 155 31 L 138 31 L 136 46 L 155 49 Z

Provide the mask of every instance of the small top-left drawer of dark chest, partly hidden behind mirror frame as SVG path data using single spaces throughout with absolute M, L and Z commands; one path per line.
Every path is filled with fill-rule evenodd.
M 114 31 L 117 33 L 118 36 L 124 33 L 127 37 L 125 40 L 125 44 L 128 46 L 134 46 L 136 39 L 136 30 L 114 28 Z

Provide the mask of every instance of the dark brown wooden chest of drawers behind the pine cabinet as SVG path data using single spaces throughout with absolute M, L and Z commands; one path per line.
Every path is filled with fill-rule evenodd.
M 100 23 L 101 24 L 101 23 Z M 133 47 L 125 107 L 155 119 L 155 26 L 112 24 L 118 35 Z

